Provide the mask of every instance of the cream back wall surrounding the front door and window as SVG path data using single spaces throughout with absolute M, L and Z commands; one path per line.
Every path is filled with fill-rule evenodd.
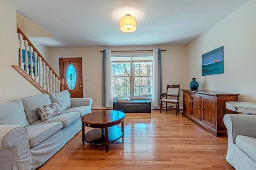
M 83 82 L 84 98 L 92 98 L 92 108 L 102 108 L 102 51 L 103 49 L 118 50 L 152 50 L 154 48 L 166 49 L 162 56 L 162 84 L 166 92 L 167 84 L 181 84 L 186 87 L 186 46 L 129 46 L 129 47 L 88 47 L 88 48 L 52 48 L 51 59 L 48 61 L 52 68 L 59 73 L 58 62 L 60 57 L 82 57 L 83 79 L 90 78 L 90 82 Z M 152 53 L 152 52 L 151 52 Z M 115 53 L 112 54 L 121 54 Z M 124 54 L 124 53 L 123 53 Z M 138 52 L 125 52 L 125 54 L 138 54 Z M 97 101 L 94 101 L 94 98 Z M 182 101 L 182 93 L 180 101 Z M 181 102 L 182 107 L 182 102 Z

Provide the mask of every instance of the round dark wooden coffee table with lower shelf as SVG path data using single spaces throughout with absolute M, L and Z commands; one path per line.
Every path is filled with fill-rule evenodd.
M 124 137 L 124 113 L 116 110 L 102 110 L 81 117 L 82 141 L 94 145 L 104 145 L 108 152 L 108 143 Z M 121 123 L 121 128 L 117 125 Z M 92 129 L 84 134 L 84 126 Z

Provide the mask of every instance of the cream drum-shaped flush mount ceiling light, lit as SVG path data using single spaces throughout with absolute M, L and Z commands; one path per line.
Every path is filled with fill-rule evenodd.
M 126 33 L 130 33 L 136 30 L 137 22 L 136 18 L 130 14 L 126 14 L 120 19 L 120 29 Z

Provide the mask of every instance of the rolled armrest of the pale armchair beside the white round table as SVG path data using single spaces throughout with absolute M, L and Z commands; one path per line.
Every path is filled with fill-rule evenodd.
M 235 143 L 237 135 L 256 137 L 256 115 L 226 114 L 223 120 L 229 142 Z

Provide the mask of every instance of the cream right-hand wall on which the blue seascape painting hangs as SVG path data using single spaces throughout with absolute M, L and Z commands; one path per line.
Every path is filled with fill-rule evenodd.
M 196 77 L 199 89 L 238 93 L 239 101 L 256 102 L 255 8 L 251 0 L 187 45 L 188 77 Z M 221 46 L 224 74 L 202 76 L 202 54 Z

